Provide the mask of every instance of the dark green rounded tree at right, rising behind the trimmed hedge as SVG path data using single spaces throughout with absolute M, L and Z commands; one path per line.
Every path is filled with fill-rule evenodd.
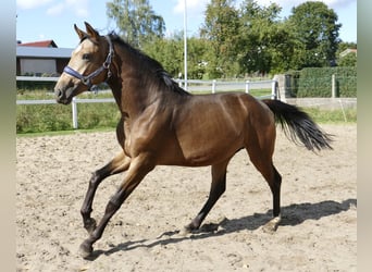
M 339 44 L 337 14 L 323 2 L 293 8 L 288 26 L 295 37 L 294 69 L 330 66 Z

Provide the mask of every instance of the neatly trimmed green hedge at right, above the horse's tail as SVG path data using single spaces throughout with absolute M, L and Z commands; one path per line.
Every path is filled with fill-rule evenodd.
M 294 97 L 331 97 L 333 74 L 338 97 L 357 97 L 357 67 L 308 67 L 288 74 Z

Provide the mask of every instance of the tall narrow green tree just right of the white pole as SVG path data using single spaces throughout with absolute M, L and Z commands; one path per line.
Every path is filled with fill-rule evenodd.
M 204 55 L 210 77 L 236 75 L 236 45 L 239 37 L 238 11 L 234 0 L 211 0 L 207 5 L 206 21 L 200 36 L 210 45 Z

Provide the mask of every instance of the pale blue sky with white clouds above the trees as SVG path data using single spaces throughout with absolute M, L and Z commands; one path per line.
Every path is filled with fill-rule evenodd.
M 115 29 L 115 23 L 108 18 L 106 3 L 100 0 L 16 0 L 16 39 L 22 42 L 52 39 L 60 48 L 75 48 L 78 38 L 73 28 L 76 24 L 85 29 L 84 22 L 107 34 Z M 203 14 L 210 0 L 186 0 L 187 35 L 198 34 Z M 236 1 L 237 4 L 241 0 Z M 257 0 L 260 5 L 270 0 Z M 281 16 L 287 17 L 292 8 L 306 0 L 275 1 L 283 8 Z M 357 42 L 357 0 L 323 0 L 338 15 L 343 26 L 339 38 Z M 185 0 L 149 0 L 153 11 L 165 21 L 166 34 L 183 30 Z

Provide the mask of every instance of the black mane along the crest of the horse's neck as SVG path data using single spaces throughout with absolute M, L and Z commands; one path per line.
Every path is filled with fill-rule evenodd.
M 114 32 L 110 34 L 111 40 L 113 42 L 119 44 L 126 50 L 128 50 L 135 58 L 138 58 L 145 66 L 149 70 L 150 74 L 154 75 L 154 78 L 159 79 L 166 88 L 175 91 L 179 95 L 190 95 L 183 88 L 178 86 L 178 84 L 172 78 L 172 76 L 164 70 L 163 65 L 157 60 L 150 58 L 142 51 L 132 47 L 128 42 L 124 41 L 117 34 Z

